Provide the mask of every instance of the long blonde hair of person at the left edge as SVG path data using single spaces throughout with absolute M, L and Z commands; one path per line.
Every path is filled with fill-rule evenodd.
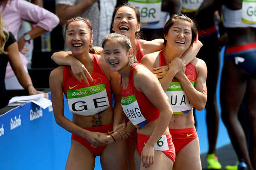
M 9 38 L 8 26 L 2 20 L 1 9 L 0 9 L 0 54 L 8 54 L 4 51 L 4 46 Z

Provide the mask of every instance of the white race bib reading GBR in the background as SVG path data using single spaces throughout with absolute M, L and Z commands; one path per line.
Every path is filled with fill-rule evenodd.
M 128 3 L 140 9 L 140 23 L 156 24 L 160 21 L 162 0 L 128 0 Z

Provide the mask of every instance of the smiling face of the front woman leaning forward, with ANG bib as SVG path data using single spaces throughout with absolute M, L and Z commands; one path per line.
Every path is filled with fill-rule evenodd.
M 122 45 L 113 40 L 108 40 L 104 44 L 104 58 L 112 71 L 122 71 L 128 68 L 132 48 L 127 51 Z

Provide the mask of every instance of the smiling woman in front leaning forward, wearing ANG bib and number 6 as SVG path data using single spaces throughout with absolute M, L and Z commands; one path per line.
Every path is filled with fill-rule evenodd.
M 129 119 L 127 128 L 137 127 L 136 169 L 172 170 L 175 148 L 168 129 L 172 108 L 157 77 L 137 62 L 127 36 L 109 34 L 102 47 L 105 61 L 121 76 L 121 104 Z

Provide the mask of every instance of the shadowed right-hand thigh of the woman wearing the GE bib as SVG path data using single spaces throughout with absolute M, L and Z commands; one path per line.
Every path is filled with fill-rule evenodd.
M 122 140 L 109 144 L 100 156 L 103 170 L 127 170 L 125 147 Z

